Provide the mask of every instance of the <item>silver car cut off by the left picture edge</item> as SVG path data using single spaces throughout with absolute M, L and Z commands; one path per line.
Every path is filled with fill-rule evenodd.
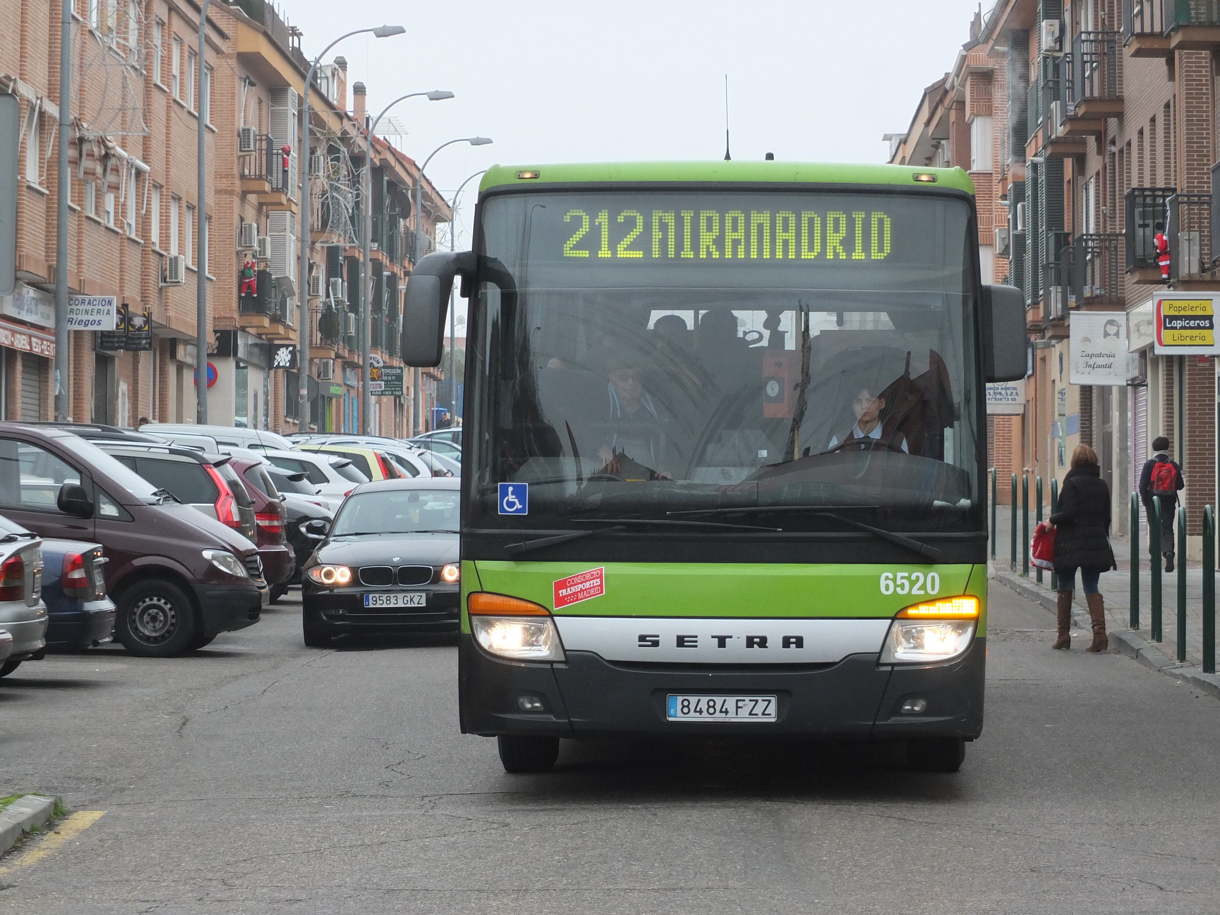
M 40 537 L 0 517 L 0 630 L 12 637 L 0 677 L 46 650 L 41 545 Z

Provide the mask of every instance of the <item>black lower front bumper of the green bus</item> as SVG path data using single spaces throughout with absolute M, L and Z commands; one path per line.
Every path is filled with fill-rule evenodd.
M 985 638 L 958 660 L 927 666 L 880 666 L 876 654 L 854 654 L 827 665 L 717 670 L 616 664 L 589 651 L 569 651 L 562 664 L 516 664 L 489 656 L 466 633 L 459 655 L 464 733 L 974 739 L 982 732 Z M 775 695 L 777 720 L 669 721 L 671 693 Z M 921 711 L 903 711 L 917 699 Z

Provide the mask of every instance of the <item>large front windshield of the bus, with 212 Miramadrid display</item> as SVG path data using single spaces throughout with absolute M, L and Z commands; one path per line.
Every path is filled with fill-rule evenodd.
M 980 528 L 972 231 L 964 196 L 899 192 L 489 198 L 471 523 Z M 504 482 L 528 515 L 499 510 Z

